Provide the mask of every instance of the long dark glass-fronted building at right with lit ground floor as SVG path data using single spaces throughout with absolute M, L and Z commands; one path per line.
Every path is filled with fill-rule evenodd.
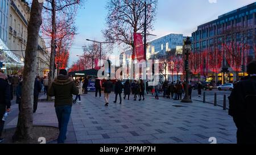
M 241 7 L 240 9 L 230 11 L 218 16 L 218 19 L 202 24 L 192 33 L 192 52 L 223 51 L 221 67 L 216 73 L 210 71 L 206 79 L 213 79 L 216 82 L 233 82 L 239 81 L 241 77 L 246 76 L 245 60 L 243 58 L 240 72 L 231 67 L 232 62 L 228 61 L 227 45 L 232 45 L 234 51 L 241 50 L 241 46 L 246 45 L 246 52 L 249 56 L 247 61 L 255 58 L 255 34 L 256 34 L 256 2 Z M 239 52 L 238 52 L 239 53 Z M 205 69 L 205 65 L 204 65 Z M 238 78 L 238 79 L 237 79 Z

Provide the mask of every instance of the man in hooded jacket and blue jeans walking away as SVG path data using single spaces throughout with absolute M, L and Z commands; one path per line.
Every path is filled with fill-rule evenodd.
M 75 82 L 67 76 L 67 70 L 61 69 L 60 75 L 54 79 L 48 95 L 55 97 L 55 111 L 59 122 L 59 137 L 57 143 L 64 143 L 67 126 L 71 115 L 73 95 L 79 94 Z

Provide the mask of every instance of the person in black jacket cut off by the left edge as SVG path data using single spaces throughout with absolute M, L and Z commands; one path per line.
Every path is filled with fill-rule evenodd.
M 0 72 L 0 143 L 3 141 L 1 138 L 3 132 L 3 126 L 5 121 L 2 120 L 5 112 L 10 112 L 11 101 L 10 101 L 10 85 L 6 81 L 6 75 Z

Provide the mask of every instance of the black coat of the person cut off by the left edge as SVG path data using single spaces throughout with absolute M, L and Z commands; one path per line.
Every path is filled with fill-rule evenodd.
M 5 79 L 2 78 L 0 78 L 0 104 L 5 105 L 6 108 L 11 107 L 10 85 Z

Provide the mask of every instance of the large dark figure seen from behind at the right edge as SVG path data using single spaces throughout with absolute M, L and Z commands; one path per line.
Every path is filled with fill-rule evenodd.
M 256 144 L 256 61 L 247 65 L 249 78 L 238 82 L 229 97 L 229 115 L 237 126 L 238 144 Z

